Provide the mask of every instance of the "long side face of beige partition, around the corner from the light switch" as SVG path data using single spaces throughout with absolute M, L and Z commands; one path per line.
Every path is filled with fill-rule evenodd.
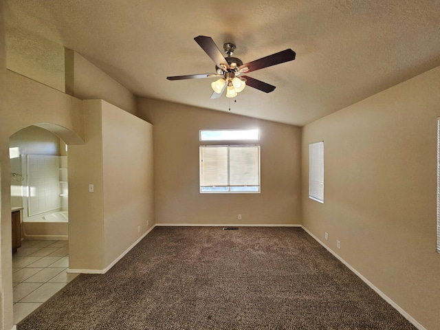
M 102 161 L 108 267 L 155 224 L 153 125 L 102 101 Z

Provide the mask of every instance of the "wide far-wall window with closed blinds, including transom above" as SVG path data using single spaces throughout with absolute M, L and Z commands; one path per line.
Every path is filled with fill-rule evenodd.
M 252 135 L 245 135 L 249 131 L 200 131 L 200 140 L 258 139 L 258 130 L 252 131 Z M 202 193 L 260 192 L 259 145 L 200 146 L 199 166 Z

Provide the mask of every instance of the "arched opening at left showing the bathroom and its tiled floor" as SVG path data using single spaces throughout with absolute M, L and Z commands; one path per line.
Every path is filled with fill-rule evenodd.
M 10 136 L 14 324 L 77 274 L 69 267 L 67 144 L 39 126 Z

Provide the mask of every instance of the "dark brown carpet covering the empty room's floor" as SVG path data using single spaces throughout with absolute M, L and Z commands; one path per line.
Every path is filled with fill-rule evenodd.
M 18 329 L 416 328 L 301 228 L 157 227 Z

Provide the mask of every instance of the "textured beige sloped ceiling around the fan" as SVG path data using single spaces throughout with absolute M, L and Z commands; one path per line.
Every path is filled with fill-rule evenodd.
M 439 0 L 8 0 L 6 12 L 137 96 L 300 126 L 440 65 Z M 243 63 L 287 48 L 296 60 L 249 74 L 270 94 L 210 100 L 213 78 L 166 80 L 214 72 L 199 35 L 236 44 Z

